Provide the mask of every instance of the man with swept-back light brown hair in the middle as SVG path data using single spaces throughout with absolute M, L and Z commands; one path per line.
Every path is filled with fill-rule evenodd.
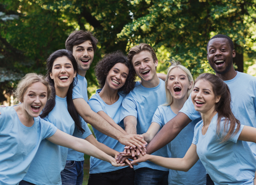
M 141 84 L 123 100 L 120 124 L 124 120 L 125 131 L 129 134 L 143 134 L 149 128 L 157 106 L 165 103 L 165 83 L 157 77 L 158 60 L 150 45 L 140 43 L 131 48 L 128 60 L 141 79 Z M 164 146 L 153 155 L 171 157 L 171 152 L 167 146 Z M 147 161 L 134 166 L 134 170 L 135 185 L 168 184 L 169 169 L 167 168 Z

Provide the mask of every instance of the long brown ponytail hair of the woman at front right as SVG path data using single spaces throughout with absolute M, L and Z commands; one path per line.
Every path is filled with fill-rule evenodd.
M 223 138 L 222 142 L 229 140 L 230 137 L 235 135 L 240 129 L 240 121 L 235 118 L 231 111 L 231 95 L 228 85 L 223 82 L 221 78 L 214 74 L 203 73 L 198 76 L 195 84 L 199 80 L 208 81 L 212 85 L 213 93 L 216 96 L 221 96 L 219 102 L 215 103 L 215 111 L 218 113 L 217 119 L 217 134 L 220 133 L 220 121 L 224 118 L 223 132 L 227 133 Z M 237 126 L 237 127 L 236 127 Z M 236 129 L 235 129 L 236 127 Z M 235 130 L 235 131 L 234 131 Z

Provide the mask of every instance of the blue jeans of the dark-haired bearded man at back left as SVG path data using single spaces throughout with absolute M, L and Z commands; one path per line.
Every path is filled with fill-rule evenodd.
M 62 185 L 83 184 L 83 163 L 84 161 L 66 161 L 66 166 L 60 173 Z

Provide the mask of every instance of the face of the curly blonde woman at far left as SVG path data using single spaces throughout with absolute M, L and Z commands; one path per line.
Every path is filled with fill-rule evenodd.
M 47 102 L 47 87 L 41 83 L 33 83 L 23 96 L 22 106 L 26 114 L 31 117 L 37 117 L 42 112 Z

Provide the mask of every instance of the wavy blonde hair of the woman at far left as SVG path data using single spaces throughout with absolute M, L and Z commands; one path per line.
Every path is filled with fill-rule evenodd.
M 47 87 L 47 100 L 50 99 L 52 89 L 45 77 L 36 73 L 28 73 L 21 79 L 17 86 L 17 89 L 14 91 L 14 95 L 18 98 L 20 102 L 23 102 L 23 97 L 26 90 L 36 82 L 41 82 Z

